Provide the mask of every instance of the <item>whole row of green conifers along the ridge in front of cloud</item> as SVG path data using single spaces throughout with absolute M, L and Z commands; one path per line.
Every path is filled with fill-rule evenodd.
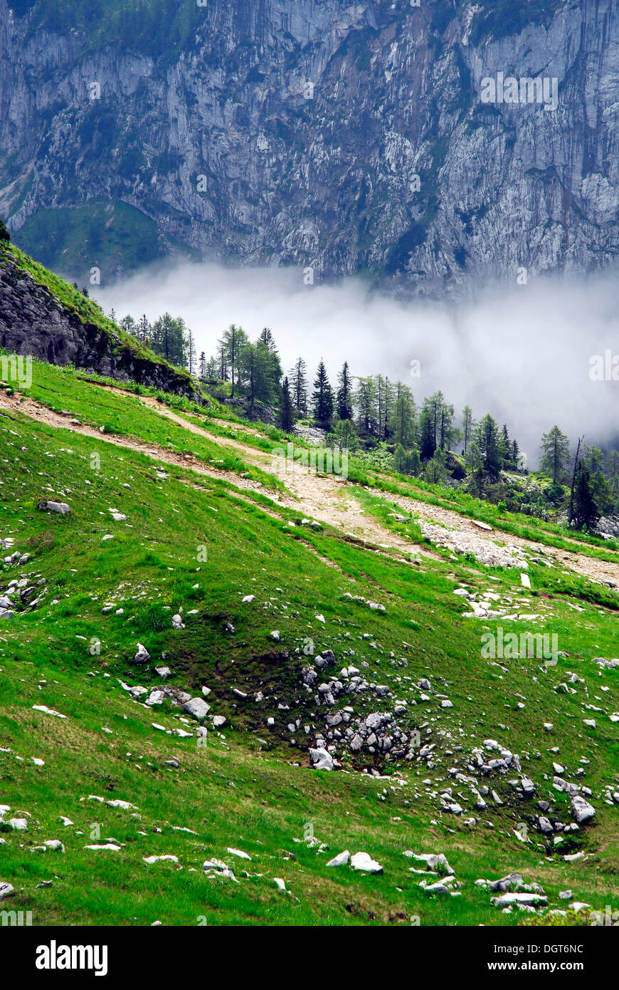
M 109 315 L 116 320 L 114 311 Z M 468 476 L 472 494 L 492 497 L 493 489 L 504 489 L 501 472 L 526 470 L 526 458 L 506 424 L 499 426 L 489 414 L 476 421 L 468 405 L 457 417 L 440 391 L 419 407 L 404 383 L 381 374 L 353 376 L 347 361 L 334 384 L 323 360 L 311 383 L 303 357 L 284 375 L 268 327 L 251 342 L 242 327 L 230 324 L 216 353 L 207 359 L 204 351 L 197 357 L 194 335 L 181 317 L 164 313 L 150 323 L 143 315 L 138 320 L 126 316 L 120 326 L 205 383 L 224 386 L 227 399 L 254 412 L 260 405 L 276 412 L 278 425 L 287 433 L 299 420 L 313 421 L 326 431 L 328 443 L 360 451 L 384 448 L 399 473 L 421 475 L 430 482 Z M 544 503 L 565 509 L 577 527 L 594 526 L 619 506 L 616 450 L 604 454 L 578 441 L 573 457 L 570 441 L 555 426 L 542 438 L 540 472 L 552 480 Z M 497 500 L 501 498 L 498 494 Z

